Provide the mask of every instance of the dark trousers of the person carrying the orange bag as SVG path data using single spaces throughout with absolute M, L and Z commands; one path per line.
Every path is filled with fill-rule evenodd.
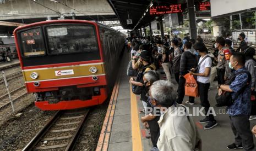
M 184 77 L 179 78 L 179 86 L 178 86 L 178 98 L 177 103 L 181 104 L 185 95 L 185 83 L 186 79 Z M 189 96 L 188 101 L 190 103 L 195 102 L 195 97 Z

